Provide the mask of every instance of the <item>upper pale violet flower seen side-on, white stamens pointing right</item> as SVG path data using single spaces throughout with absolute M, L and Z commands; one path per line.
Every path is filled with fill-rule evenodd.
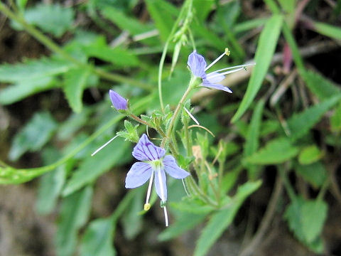
M 206 71 L 212 67 L 212 65 L 215 65 L 218 60 L 220 60 L 224 55 L 229 55 L 229 50 L 226 48 L 224 53 L 220 55 L 216 60 L 214 60 L 210 65 L 206 66 L 205 58 L 202 57 L 202 55 L 197 54 L 197 51 L 194 50 L 193 53 L 190 53 L 188 56 L 188 66 L 190 67 L 190 71 L 192 74 L 202 79 L 202 86 L 213 88 L 217 90 L 223 90 L 225 92 L 232 93 L 232 90 L 229 89 L 229 87 L 224 87 L 224 85 L 220 85 L 220 82 L 224 80 L 225 76 L 229 73 L 234 73 L 239 70 L 245 69 L 248 65 L 254 65 L 254 64 L 246 64 L 246 65 L 237 65 L 230 68 L 223 68 L 221 70 L 216 70 L 211 73 L 206 73 Z M 231 70 L 233 69 L 233 70 Z M 229 71 L 225 71 L 229 70 Z M 223 73 L 220 73 L 221 71 L 224 71 Z

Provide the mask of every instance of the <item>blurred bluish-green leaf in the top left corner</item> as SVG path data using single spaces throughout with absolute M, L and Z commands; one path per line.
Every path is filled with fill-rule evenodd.
M 63 33 L 71 28 L 74 16 L 72 8 L 60 4 L 38 4 L 26 9 L 24 14 L 27 23 L 36 25 L 42 31 L 57 37 L 63 36 Z

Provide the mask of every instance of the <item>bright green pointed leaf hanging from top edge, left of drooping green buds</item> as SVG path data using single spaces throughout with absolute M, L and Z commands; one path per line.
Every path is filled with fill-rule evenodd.
M 146 5 L 162 40 L 166 41 L 174 23 L 172 11 L 177 9 L 164 0 L 146 0 Z

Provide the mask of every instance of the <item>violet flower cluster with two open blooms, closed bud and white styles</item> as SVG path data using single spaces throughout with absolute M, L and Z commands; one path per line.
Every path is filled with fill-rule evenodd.
M 225 92 L 232 93 L 232 90 L 230 90 L 228 87 L 224 87 L 223 85 L 220 84 L 220 82 L 222 82 L 222 80 L 225 78 L 224 75 L 242 70 L 247 65 L 240 65 L 240 66 L 235 66 L 232 68 L 224 68 L 221 70 L 216 70 L 211 73 L 206 73 L 206 71 L 209 68 L 211 68 L 212 65 L 217 63 L 217 61 L 220 60 L 220 58 L 228 54 L 229 54 L 229 51 L 225 49 L 222 55 L 220 55 L 216 60 L 214 60 L 210 65 L 207 66 L 205 58 L 202 57 L 202 55 L 197 54 L 196 50 L 194 50 L 193 53 L 191 53 L 188 56 L 188 67 L 190 68 L 190 71 L 192 73 L 193 81 L 197 79 L 201 80 L 201 83 L 195 84 L 194 87 L 196 87 L 196 85 L 200 85 L 202 87 L 213 88 L 213 89 L 223 90 Z M 188 90 L 191 90 L 191 89 L 192 87 L 190 85 Z M 159 133 L 161 132 L 163 139 L 168 138 L 168 135 L 162 132 L 161 128 L 158 129 L 157 127 L 151 124 L 148 124 L 148 122 L 145 122 L 144 120 L 132 114 L 131 111 L 129 110 L 128 100 L 126 100 L 124 97 L 121 97 L 121 95 L 119 95 L 117 92 L 114 92 L 114 90 L 109 90 L 109 97 L 110 97 L 110 100 L 112 101 L 112 105 L 117 111 L 123 114 L 126 114 L 129 117 L 132 117 L 133 119 L 135 119 L 137 122 L 140 122 L 141 124 L 146 124 L 147 126 L 153 127 Z M 185 97 L 183 97 L 183 100 L 185 100 Z M 178 107 L 182 105 L 183 105 L 183 102 L 180 101 Z M 190 114 L 190 112 L 187 109 L 185 109 L 185 111 L 198 124 L 197 120 L 193 117 L 193 115 Z M 178 112 L 175 110 L 173 117 L 172 117 L 173 118 L 172 121 L 175 121 L 176 114 L 178 114 Z M 168 132 L 171 132 L 171 131 L 168 131 Z M 107 142 L 106 144 L 101 146 L 99 149 L 97 149 L 97 151 L 95 151 L 92 155 L 96 154 L 104 146 L 107 146 L 107 144 L 112 142 L 112 140 L 114 140 L 118 136 L 120 136 L 119 133 L 117 134 L 117 136 L 109 140 L 109 142 Z M 134 147 L 132 155 L 135 157 L 135 159 L 139 161 L 133 164 L 131 166 L 131 169 L 126 174 L 126 188 L 136 188 L 136 187 L 142 186 L 144 183 L 146 183 L 149 180 L 148 191 L 146 195 L 146 203 L 144 205 L 144 210 L 148 210 L 151 207 L 149 203 L 149 198 L 151 196 L 151 187 L 154 181 L 156 193 L 158 194 L 159 198 L 161 198 L 161 207 L 164 210 L 166 226 L 168 226 L 168 215 L 167 215 L 167 210 L 166 210 L 166 201 L 167 201 L 166 173 L 172 176 L 173 178 L 178 178 L 178 179 L 186 178 L 187 176 L 190 176 L 190 173 L 188 171 L 181 169 L 178 166 L 174 156 L 172 156 L 171 154 L 166 154 L 166 149 L 164 148 L 164 144 L 161 145 L 161 147 L 154 145 L 148 139 L 146 134 L 142 134 L 142 136 L 139 138 L 139 141 Z

